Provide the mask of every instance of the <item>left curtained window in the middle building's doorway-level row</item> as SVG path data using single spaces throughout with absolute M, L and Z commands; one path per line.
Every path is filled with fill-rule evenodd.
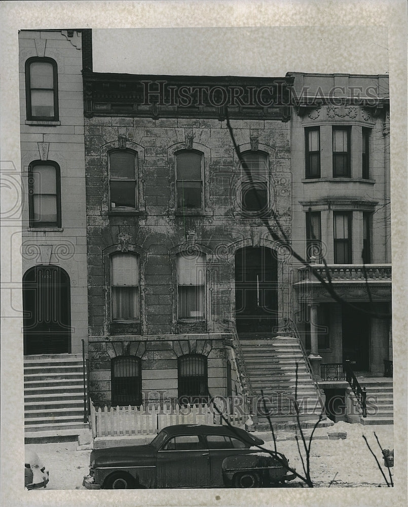
M 115 253 L 110 259 L 112 320 L 139 319 L 139 259 Z

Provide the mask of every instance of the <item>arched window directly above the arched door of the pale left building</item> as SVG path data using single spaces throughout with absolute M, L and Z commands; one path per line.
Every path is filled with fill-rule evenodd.
M 56 162 L 36 160 L 28 167 L 30 227 L 61 227 L 60 170 Z

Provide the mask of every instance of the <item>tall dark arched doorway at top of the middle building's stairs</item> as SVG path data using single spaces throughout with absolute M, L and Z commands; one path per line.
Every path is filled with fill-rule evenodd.
M 270 332 L 278 322 L 278 268 L 270 248 L 235 254 L 235 315 L 241 333 Z

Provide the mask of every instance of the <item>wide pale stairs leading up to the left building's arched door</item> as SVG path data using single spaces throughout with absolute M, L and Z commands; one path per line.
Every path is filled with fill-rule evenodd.
M 82 354 L 24 357 L 24 438 L 76 440 L 84 423 Z

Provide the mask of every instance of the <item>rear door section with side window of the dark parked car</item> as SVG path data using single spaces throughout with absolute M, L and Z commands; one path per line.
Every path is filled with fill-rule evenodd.
M 234 437 L 225 435 L 207 435 L 207 445 L 210 452 L 211 483 L 215 486 L 224 486 L 222 479 L 222 461 L 227 456 L 246 454 L 250 452 L 247 444 Z

